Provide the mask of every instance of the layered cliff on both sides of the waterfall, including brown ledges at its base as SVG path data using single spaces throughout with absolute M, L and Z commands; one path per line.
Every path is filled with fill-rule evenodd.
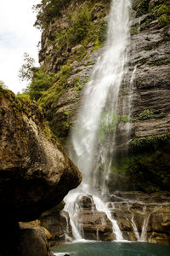
M 52 131 L 64 146 L 82 107 L 83 86 L 103 51 L 111 1 L 65 2 L 65 7 L 43 27 L 41 69 L 57 73 L 57 79 L 38 99 Z M 148 235 L 147 241 L 169 244 L 169 194 L 162 193 L 170 187 L 169 8 L 166 0 L 132 1 L 127 73 L 118 104 L 118 114 L 124 118 L 116 125 L 115 164 L 108 186 L 111 193 L 161 192 L 151 196 L 117 192 L 111 198 L 112 217 L 117 220 L 124 239 L 131 241 Z M 131 113 L 125 109 L 124 114 L 122 102 L 129 99 L 132 99 Z M 127 122 L 131 128 L 129 143 L 122 136 Z M 65 147 L 69 146 L 68 143 Z M 84 236 L 112 241 L 109 219 L 104 227 L 101 216 L 105 218 L 105 213 L 94 208 L 92 211 L 91 205 L 93 199 L 84 196 L 79 216 Z M 52 213 L 48 212 L 48 219 L 42 216 L 42 224 L 51 227 L 53 233 L 57 221 Z M 144 223 L 147 225 L 142 234 Z M 62 228 L 64 225 L 62 221 Z M 55 232 L 53 235 L 58 236 Z

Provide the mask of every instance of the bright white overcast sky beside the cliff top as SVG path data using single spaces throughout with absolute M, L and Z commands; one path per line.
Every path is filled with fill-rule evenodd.
M 26 88 L 20 82 L 19 69 L 25 52 L 37 61 L 40 32 L 33 26 L 34 4 L 40 0 L 0 0 L 0 80 L 14 93 Z

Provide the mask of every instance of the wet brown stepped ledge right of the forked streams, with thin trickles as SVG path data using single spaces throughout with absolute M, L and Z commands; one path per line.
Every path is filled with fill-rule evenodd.
M 170 244 L 169 193 L 117 193 L 119 200 L 109 203 L 113 218 L 122 230 L 123 238 L 130 241 Z M 115 195 L 116 197 L 116 195 Z

